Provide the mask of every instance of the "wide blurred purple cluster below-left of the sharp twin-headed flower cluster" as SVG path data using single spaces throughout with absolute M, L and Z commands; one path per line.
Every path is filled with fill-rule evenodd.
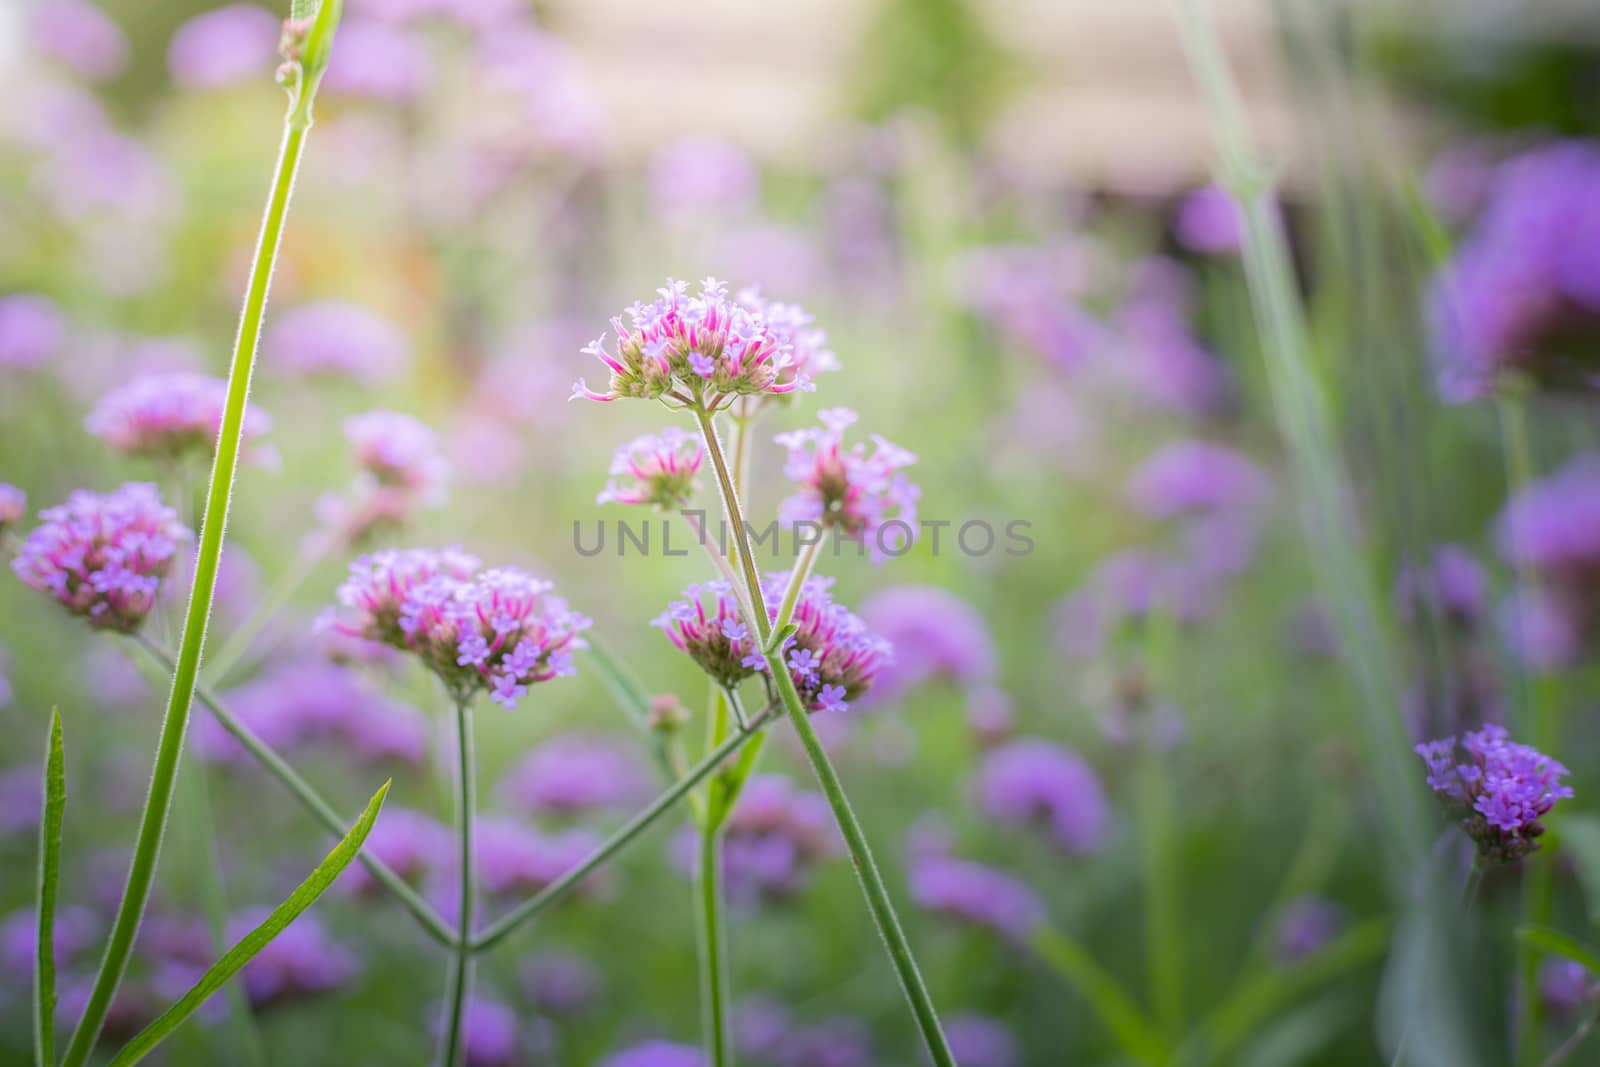
M 422 713 L 382 696 L 336 664 L 288 664 L 230 689 L 222 699 L 240 721 L 278 750 L 333 742 L 360 760 L 411 765 L 421 765 L 427 755 Z M 195 745 L 202 758 L 214 763 L 248 761 L 238 742 L 211 718 L 195 723 Z

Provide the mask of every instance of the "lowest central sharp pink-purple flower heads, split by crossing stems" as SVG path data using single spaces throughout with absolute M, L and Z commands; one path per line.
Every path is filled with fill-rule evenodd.
M 776 616 L 789 574 L 768 574 L 762 592 Z M 893 651 L 854 613 L 834 603 L 830 577 L 808 577 L 800 587 L 792 622 L 798 627 L 784 645 L 784 662 L 810 710 L 842 712 L 866 693 Z M 739 617 L 739 603 L 725 581 L 690 585 L 651 625 L 723 686 L 736 686 L 766 672 L 760 637 Z M 709 605 L 707 605 L 709 600 Z

